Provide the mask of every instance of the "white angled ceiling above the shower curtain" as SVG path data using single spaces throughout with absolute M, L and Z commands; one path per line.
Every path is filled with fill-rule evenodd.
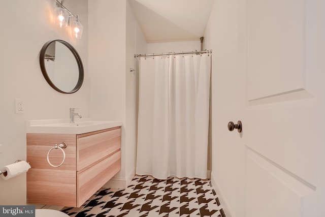
M 148 43 L 200 40 L 214 0 L 129 0 Z

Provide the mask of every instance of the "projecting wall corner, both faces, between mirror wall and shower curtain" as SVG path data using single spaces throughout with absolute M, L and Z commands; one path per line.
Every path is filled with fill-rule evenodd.
M 144 48 L 128 1 L 89 1 L 90 116 L 121 120 L 121 171 L 105 186 L 125 188 L 135 173 L 136 74 L 134 54 Z

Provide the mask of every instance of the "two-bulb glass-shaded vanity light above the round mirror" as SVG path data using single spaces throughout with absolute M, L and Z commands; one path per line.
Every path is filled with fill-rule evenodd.
M 66 7 L 63 6 L 62 1 L 56 1 L 56 8 L 55 8 L 55 23 L 63 28 L 70 26 L 72 36 L 76 37 L 77 39 L 81 39 L 82 32 L 83 32 L 83 25 L 78 19 L 78 15 L 75 16 L 71 13 Z M 71 17 L 75 18 L 74 21 L 71 20 Z

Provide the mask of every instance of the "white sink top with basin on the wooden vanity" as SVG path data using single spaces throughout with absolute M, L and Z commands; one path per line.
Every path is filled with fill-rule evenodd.
M 28 120 L 26 133 L 83 134 L 119 126 L 122 126 L 122 121 L 97 121 L 90 118 L 75 119 L 75 123 L 70 123 L 69 119 Z

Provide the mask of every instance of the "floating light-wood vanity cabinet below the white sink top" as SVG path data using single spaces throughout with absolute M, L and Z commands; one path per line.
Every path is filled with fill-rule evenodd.
M 80 207 L 121 169 L 121 128 L 85 134 L 27 133 L 27 203 Z M 66 142 L 60 167 L 47 162 L 55 144 Z M 49 154 L 53 165 L 63 160 L 60 149 Z

